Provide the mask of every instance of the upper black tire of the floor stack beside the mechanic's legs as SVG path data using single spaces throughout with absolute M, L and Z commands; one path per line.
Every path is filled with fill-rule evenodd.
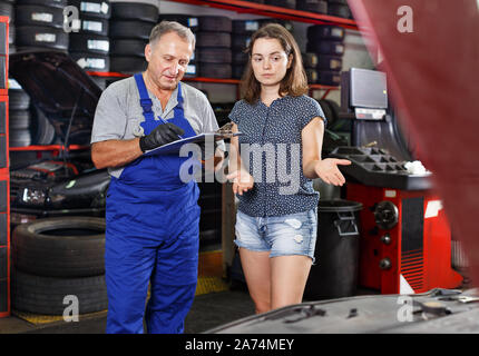
M 94 217 L 45 218 L 13 230 L 12 263 L 17 269 L 45 277 L 89 277 L 105 273 L 105 219 Z M 88 228 L 98 234 L 53 236 L 63 228 Z

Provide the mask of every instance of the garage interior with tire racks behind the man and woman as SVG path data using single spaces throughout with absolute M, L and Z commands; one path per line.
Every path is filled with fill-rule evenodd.
M 109 176 L 90 159 L 95 102 L 110 83 L 145 70 L 144 46 L 162 20 L 194 31 L 183 81 L 207 96 L 219 127 L 240 99 L 251 34 L 278 22 L 300 44 L 309 96 L 329 120 L 323 158 L 353 162 L 342 169 L 344 187 L 313 182 L 324 255 L 305 301 L 468 290 L 463 244 L 359 11 L 346 0 L 0 0 L 0 334 L 105 333 Z M 198 286 L 186 334 L 254 315 L 233 244 L 232 186 L 198 186 Z M 81 295 L 84 283 L 89 303 L 78 323 L 66 323 L 63 296 Z

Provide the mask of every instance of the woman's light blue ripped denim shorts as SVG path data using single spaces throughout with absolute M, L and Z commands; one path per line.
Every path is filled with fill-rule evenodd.
M 317 235 L 317 208 L 283 216 L 252 217 L 236 215 L 238 247 L 252 251 L 271 251 L 270 257 L 304 255 L 314 263 Z

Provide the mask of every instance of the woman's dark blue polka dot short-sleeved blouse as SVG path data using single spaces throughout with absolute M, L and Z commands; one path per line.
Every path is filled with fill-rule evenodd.
M 237 196 L 238 209 L 253 217 L 283 216 L 317 206 L 319 192 L 303 176 L 301 131 L 315 117 L 324 121 L 319 102 L 307 96 L 285 96 L 270 107 L 261 100 L 235 103 L 229 119 L 240 136 L 243 164 L 255 178 L 253 189 Z

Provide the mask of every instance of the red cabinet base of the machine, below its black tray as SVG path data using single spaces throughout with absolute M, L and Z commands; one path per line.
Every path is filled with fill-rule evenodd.
M 398 190 L 348 184 L 348 200 L 360 201 L 359 284 L 382 294 L 456 288 L 451 231 L 442 202 L 430 190 Z

